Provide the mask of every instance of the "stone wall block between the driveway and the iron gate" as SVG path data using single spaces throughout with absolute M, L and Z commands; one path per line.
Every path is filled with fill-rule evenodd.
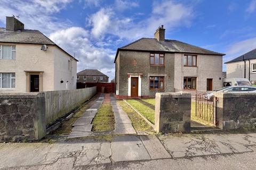
M 157 93 L 155 130 L 157 132 L 190 131 L 191 94 L 187 92 Z

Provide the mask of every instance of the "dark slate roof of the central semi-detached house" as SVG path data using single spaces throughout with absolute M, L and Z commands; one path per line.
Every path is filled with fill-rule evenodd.
M 165 41 L 158 41 L 156 38 L 141 38 L 137 41 L 134 41 L 131 44 L 118 48 L 116 57 L 120 50 L 226 55 L 222 53 L 213 52 L 211 50 L 207 50 L 201 47 L 193 46 L 187 43 L 182 43 L 181 41 L 178 41 L 178 40 L 165 39 Z M 116 61 L 116 58 L 115 58 L 115 61 Z

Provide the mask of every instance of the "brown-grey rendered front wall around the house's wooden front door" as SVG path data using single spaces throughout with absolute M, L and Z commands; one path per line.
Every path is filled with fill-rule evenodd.
M 150 66 L 149 52 L 119 52 L 119 95 L 128 96 L 127 73 L 142 73 L 141 96 L 155 96 L 156 92 L 174 92 L 174 54 L 165 53 L 165 66 Z M 136 61 L 137 65 L 133 65 Z M 164 90 L 149 90 L 150 76 L 164 76 Z

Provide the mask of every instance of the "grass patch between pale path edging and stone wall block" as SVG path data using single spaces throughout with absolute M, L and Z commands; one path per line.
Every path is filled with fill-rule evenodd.
M 126 100 L 127 103 L 129 103 L 132 107 L 137 109 L 138 112 L 140 112 L 143 116 L 147 118 L 151 123 L 155 124 L 155 111 L 143 104 L 141 104 L 139 101 L 129 99 Z

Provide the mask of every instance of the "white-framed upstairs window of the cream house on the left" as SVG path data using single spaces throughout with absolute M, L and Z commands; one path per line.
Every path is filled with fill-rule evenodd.
M 15 60 L 16 59 L 16 46 L 0 45 L 0 59 Z

